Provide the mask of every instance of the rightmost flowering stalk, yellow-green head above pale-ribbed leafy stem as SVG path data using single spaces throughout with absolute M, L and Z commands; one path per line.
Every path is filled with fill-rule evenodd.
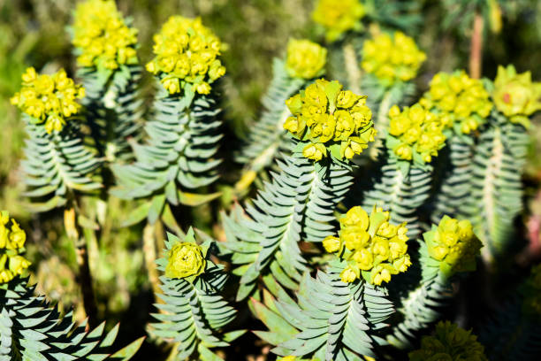
M 480 135 L 473 158 L 467 211 L 491 260 L 513 246 L 515 217 L 522 211 L 522 173 L 529 144 L 528 117 L 541 109 L 541 83 L 529 73 L 500 67 L 489 89 L 495 109 Z

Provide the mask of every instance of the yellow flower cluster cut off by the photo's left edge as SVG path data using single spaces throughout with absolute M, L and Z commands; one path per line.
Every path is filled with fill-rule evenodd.
M 0 212 L 0 284 L 13 280 L 30 265 L 30 262 L 20 255 L 25 250 L 27 234 L 20 229 L 15 219 L 11 219 L 11 229 L 6 227 L 9 221 L 9 213 Z

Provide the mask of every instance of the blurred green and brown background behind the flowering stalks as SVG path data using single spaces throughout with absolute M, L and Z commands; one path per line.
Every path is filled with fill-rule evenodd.
M 80 308 L 74 253 L 62 233 L 59 214 L 36 216 L 24 209 L 19 181 L 24 133 L 19 113 L 9 98 L 18 90 L 20 74 L 27 66 L 32 65 L 38 71 L 65 67 L 68 73 L 74 73 L 65 27 L 71 22 L 76 3 L 75 0 L 0 0 L 0 209 L 10 211 L 27 230 L 28 258 L 34 263 L 33 279 L 39 281 L 39 290 L 57 302 L 61 310 Z M 140 31 L 139 55 L 143 63 L 152 58 L 152 35 L 171 14 L 201 16 L 203 23 L 228 44 L 224 54 L 228 76 L 223 83 L 228 139 L 224 144 L 233 144 L 238 143 L 257 117 L 259 99 L 270 81 L 271 59 L 284 54 L 288 38 L 320 40 L 310 20 L 313 3 L 313 0 L 119 0 L 118 8 L 133 17 L 133 24 Z M 530 70 L 534 80 L 539 81 L 541 2 L 506 3 L 502 8 L 502 31 L 494 34 L 486 27 L 484 75 L 493 78 L 497 65 L 514 64 L 519 72 Z M 469 27 L 460 23 L 460 14 L 459 18 L 449 19 L 453 2 L 426 0 L 418 4 L 423 21 L 419 32 L 409 35 L 415 36 L 428 54 L 418 81 L 423 90 L 434 73 L 467 67 L 470 34 Z M 442 26 L 444 23 L 446 26 Z M 150 90 L 147 94 L 150 95 Z M 525 179 L 529 200 L 535 198 L 541 179 L 541 160 L 537 157 L 541 134 L 535 129 L 538 127 L 532 130 Z M 225 145 L 221 150 L 223 157 L 230 158 L 232 150 L 231 145 Z M 540 198 L 537 197 L 537 202 L 541 202 Z M 533 202 L 529 210 L 541 213 L 541 206 Z M 110 224 L 103 229 L 101 239 L 95 240 L 90 251 L 95 256 L 90 262 L 100 318 L 110 323 L 126 321 L 125 330 L 137 331 L 120 334 L 133 340 L 144 334 L 141 325 L 148 318 L 153 298 L 143 266 L 141 227 L 115 227 L 126 205 L 117 202 L 111 208 L 115 211 Z

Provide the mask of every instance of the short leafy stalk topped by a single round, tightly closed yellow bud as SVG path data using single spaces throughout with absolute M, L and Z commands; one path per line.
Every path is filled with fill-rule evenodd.
M 183 240 L 168 234 L 165 247 L 165 257 L 156 261 L 164 272 L 163 294 L 156 296 L 164 303 L 156 303 L 161 312 L 153 315 L 159 322 L 150 324 L 150 333 L 175 342 L 175 360 L 221 360 L 210 348 L 227 346 L 244 331 L 223 332 L 237 311 L 221 295 L 227 273 L 210 260 L 216 245 L 197 244 L 190 228 Z

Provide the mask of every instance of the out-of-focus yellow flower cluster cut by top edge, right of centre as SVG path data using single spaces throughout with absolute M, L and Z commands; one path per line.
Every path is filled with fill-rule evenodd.
M 319 0 L 312 19 L 325 28 L 328 42 L 334 42 L 348 30 L 361 29 L 364 6 L 359 0 Z

